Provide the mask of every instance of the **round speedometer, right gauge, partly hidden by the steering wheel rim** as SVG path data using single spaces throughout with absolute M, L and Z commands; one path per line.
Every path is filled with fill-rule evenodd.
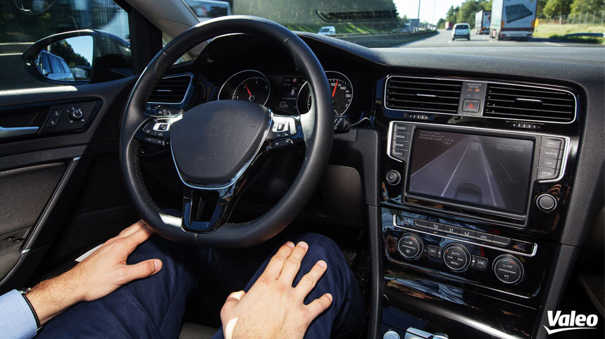
M 330 84 L 330 94 L 332 94 L 332 103 L 334 104 L 334 115 L 343 115 L 349 109 L 351 101 L 353 101 L 353 86 L 351 80 L 341 72 L 328 71 L 325 72 Z M 308 82 L 306 82 L 297 98 L 297 108 L 299 113 L 307 113 L 311 110 L 313 98 Z

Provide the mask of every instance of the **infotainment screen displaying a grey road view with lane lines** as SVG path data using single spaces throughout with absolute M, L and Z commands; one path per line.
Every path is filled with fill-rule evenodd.
M 416 129 L 407 193 L 523 214 L 533 150 L 530 140 Z

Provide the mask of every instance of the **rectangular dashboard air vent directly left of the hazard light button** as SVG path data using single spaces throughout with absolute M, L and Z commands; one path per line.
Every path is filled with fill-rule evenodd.
M 462 82 L 418 77 L 389 77 L 385 106 L 411 112 L 458 113 Z

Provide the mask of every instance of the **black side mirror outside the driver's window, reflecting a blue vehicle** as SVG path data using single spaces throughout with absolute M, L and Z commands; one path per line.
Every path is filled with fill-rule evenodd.
M 132 75 L 130 43 L 99 30 L 51 35 L 21 58 L 30 75 L 44 82 L 104 82 Z

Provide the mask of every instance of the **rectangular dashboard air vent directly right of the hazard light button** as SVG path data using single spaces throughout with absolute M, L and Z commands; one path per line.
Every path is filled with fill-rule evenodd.
M 575 98 L 568 91 L 511 84 L 487 84 L 484 117 L 572 122 Z

